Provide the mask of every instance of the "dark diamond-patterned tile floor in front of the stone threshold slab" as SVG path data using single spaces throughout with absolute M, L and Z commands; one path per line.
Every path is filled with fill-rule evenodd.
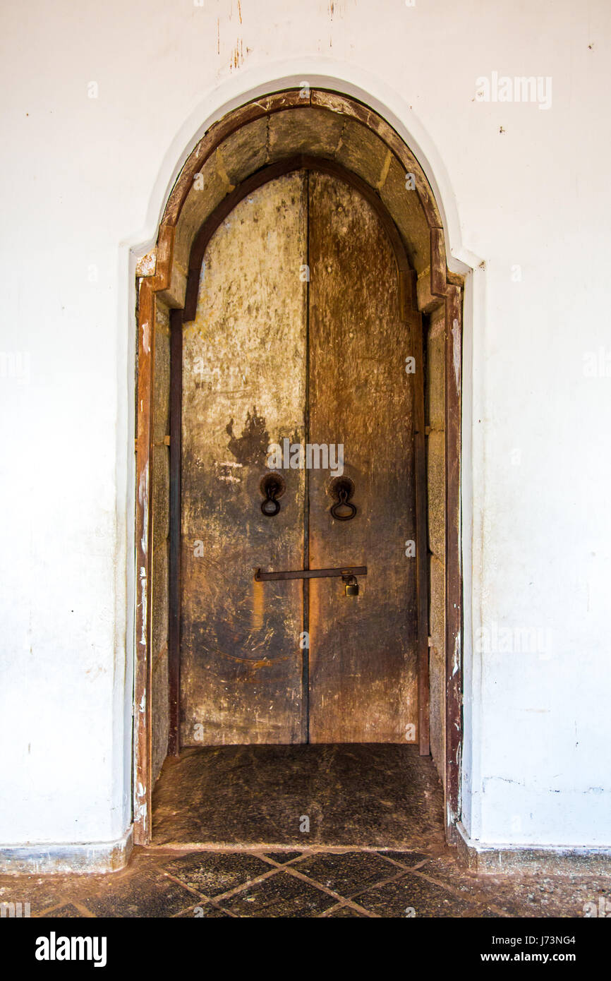
M 1 876 L 31 916 L 584 916 L 601 876 L 477 876 L 453 852 L 135 849 L 109 875 Z

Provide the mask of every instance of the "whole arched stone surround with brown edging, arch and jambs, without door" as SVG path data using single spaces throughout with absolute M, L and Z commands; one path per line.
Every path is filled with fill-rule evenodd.
M 449 838 L 459 816 L 462 281 L 447 270 L 443 228 L 431 186 L 398 134 L 353 99 L 319 89 L 290 89 L 247 103 L 208 130 L 180 172 L 154 254 L 140 263 L 134 681 L 134 831 L 139 844 L 150 840 L 151 793 L 163 757 L 168 749 L 178 749 L 176 725 L 172 725 L 178 699 L 172 672 L 178 623 L 169 603 L 177 570 L 176 556 L 175 568 L 169 568 L 172 556 L 167 543 L 173 508 L 177 519 L 170 490 L 170 467 L 176 463 L 171 464 L 168 436 L 173 311 L 193 303 L 188 294 L 189 270 L 198 262 L 201 265 L 197 238 L 201 245 L 211 216 L 218 217 L 224 209 L 229 213 L 235 189 L 244 181 L 257 181 L 266 169 L 304 156 L 341 167 L 368 188 L 389 216 L 415 271 L 413 277 L 405 277 L 406 298 L 414 314 L 426 318 L 428 363 L 425 433 L 430 507 L 425 574 L 431 610 L 430 626 L 423 625 L 428 641 L 423 656 L 430 649 L 433 755 L 445 789 Z M 422 696 L 425 704 L 428 692 Z M 422 751 L 428 751 L 428 721 L 421 728 Z

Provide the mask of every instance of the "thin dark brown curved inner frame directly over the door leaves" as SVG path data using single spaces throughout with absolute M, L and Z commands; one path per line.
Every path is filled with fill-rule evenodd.
M 315 157 L 308 154 L 294 154 L 268 164 L 256 171 L 245 181 L 241 181 L 229 192 L 223 201 L 215 208 L 211 215 L 204 219 L 199 230 L 195 233 L 189 253 L 188 272 L 186 289 L 184 296 L 184 310 L 182 321 L 186 323 L 195 317 L 197 308 L 197 294 L 199 289 L 199 279 L 204 259 L 206 247 L 220 225 L 229 216 L 230 212 L 248 194 L 262 187 L 270 181 L 275 181 L 286 174 L 295 171 L 318 171 L 322 174 L 331 175 L 340 181 L 354 187 L 365 200 L 370 204 L 381 220 L 382 228 L 388 236 L 397 268 L 397 280 L 399 284 L 399 296 L 404 319 L 409 316 L 412 309 L 412 298 L 414 294 L 415 271 L 409 264 L 405 247 L 401 236 L 390 217 L 380 196 L 373 190 L 372 186 L 336 161 L 325 157 Z

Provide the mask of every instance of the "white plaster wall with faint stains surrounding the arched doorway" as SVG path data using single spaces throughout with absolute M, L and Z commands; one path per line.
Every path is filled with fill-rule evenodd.
M 0 843 L 127 828 L 134 255 L 197 135 L 307 79 L 360 95 L 406 136 L 455 268 L 476 268 L 467 830 L 611 845 L 611 378 L 583 373 L 584 352 L 611 354 L 610 21 L 606 0 L 4 5 L 0 351 L 28 355 L 29 373 L 0 378 Z M 477 101 L 492 71 L 551 76 L 551 108 Z M 482 652 L 482 624 L 497 646 L 507 630 L 549 643 Z

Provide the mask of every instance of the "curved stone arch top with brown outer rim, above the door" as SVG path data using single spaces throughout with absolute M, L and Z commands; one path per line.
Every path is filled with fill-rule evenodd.
M 448 284 L 462 284 L 447 270 L 433 189 L 396 130 L 353 98 L 294 88 L 232 110 L 190 153 L 160 223 L 155 272 L 145 276 L 152 291 L 183 307 L 191 247 L 202 226 L 218 207 L 234 206 L 240 184 L 295 156 L 315 159 L 319 168 L 336 165 L 344 179 L 362 181 L 379 214 L 385 209 L 416 272 L 421 310 L 438 305 Z

